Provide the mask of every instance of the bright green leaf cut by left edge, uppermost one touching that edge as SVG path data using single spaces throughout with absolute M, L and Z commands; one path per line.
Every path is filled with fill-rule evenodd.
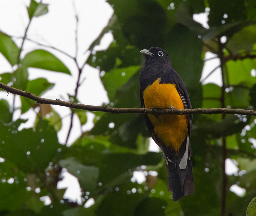
M 17 64 L 19 48 L 10 36 L 0 31 L 0 52 L 13 66 Z

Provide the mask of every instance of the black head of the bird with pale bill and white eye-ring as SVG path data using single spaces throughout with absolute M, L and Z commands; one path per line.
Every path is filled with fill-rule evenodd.
M 158 62 L 158 63 L 170 63 L 169 56 L 165 50 L 159 47 L 151 47 L 149 50 L 143 49 L 140 51 L 145 56 L 145 63 Z

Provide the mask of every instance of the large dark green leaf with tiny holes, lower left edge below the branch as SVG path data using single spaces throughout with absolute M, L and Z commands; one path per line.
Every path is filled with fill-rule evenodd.
M 56 131 L 46 120 L 36 129 L 18 131 L 20 121 L 5 126 L 0 124 L 2 137 L 0 157 L 7 158 L 27 173 L 44 172 L 60 147 Z

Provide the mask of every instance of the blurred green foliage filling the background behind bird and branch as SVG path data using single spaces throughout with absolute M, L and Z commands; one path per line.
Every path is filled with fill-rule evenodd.
M 114 41 L 107 50 L 91 52 L 85 62 L 101 71 L 110 100 L 108 106 L 140 107 L 140 50 L 158 46 L 169 53 L 193 108 L 255 108 L 255 0 L 108 3 L 114 14 L 89 50 L 99 44 L 106 32 L 112 32 Z M 27 9 L 30 20 L 46 14 L 47 7 L 31 0 Z M 205 12 L 209 14 L 209 28 L 193 20 L 193 14 Z M 43 78 L 28 80 L 28 68 L 71 74 L 50 52 L 34 50 L 21 58 L 21 48 L 11 36 L 0 32 L 0 52 L 15 68 L 0 75 L 2 83 L 40 96 L 55 83 Z M 222 86 L 200 82 L 206 52 L 220 59 Z M 77 90 L 69 97 L 71 102 L 79 102 L 76 93 Z M 94 112 L 93 129 L 67 147 L 58 141 L 61 119 L 51 106 L 22 97 L 21 113 L 38 106 L 40 109 L 33 128 L 18 130 L 26 120 L 13 121 L 9 103 L 12 102 L 7 99 L 0 101 L 0 215 L 235 216 L 245 215 L 247 205 L 256 196 L 253 116 L 194 115 L 191 143 L 195 194 L 174 202 L 171 193 L 167 193 L 161 152 L 148 151 L 149 133 L 142 114 Z M 81 125 L 86 123 L 85 111 L 71 112 L 72 117 L 79 117 Z M 236 163 L 238 172 L 225 174 L 226 158 Z M 63 199 L 65 189 L 56 187 L 62 168 L 78 178 L 82 204 Z M 144 171 L 146 181 L 131 181 L 134 171 Z M 151 175 L 150 171 L 158 175 Z M 246 192 L 236 195 L 229 190 L 232 185 L 245 188 Z M 40 199 L 43 196 L 50 197 L 50 205 L 44 205 Z M 89 198 L 95 203 L 85 208 Z

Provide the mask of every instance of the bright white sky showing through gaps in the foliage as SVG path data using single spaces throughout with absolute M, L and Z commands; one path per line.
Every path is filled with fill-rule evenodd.
M 21 45 L 21 39 L 24 35 L 25 28 L 28 24 L 28 16 L 25 6 L 28 6 L 29 0 L 1 0 L 0 1 L 0 31 L 7 33 L 8 35 L 14 36 L 14 40 L 18 46 Z M 53 0 L 53 1 L 43 1 L 43 3 L 49 4 L 49 12 L 46 15 L 40 16 L 38 18 L 33 18 L 27 37 L 29 39 L 35 40 L 37 42 L 43 43 L 45 45 L 54 46 L 61 49 L 70 55 L 75 55 L 75 14 L 78 14 L 79 24 L 78 24 L 78 63 L 82 65 L 85 59 L 88 57 L 89 45 L 98 37 L 102 29 L 107 25 L 108 20 L 113 14 L 113 9 L 104 0 Z M 207 13 L 202 13 L 194 15 L 193 18 L 203 23 L 207 28 Z M 97 50 L 106 49 L 112 42 L 113 36 L 111 33 L 105 34 L 104 38 L 101 40 L 100 46 Z M 153 46 L 153 44 L 152 44 Z M 24 51 L 25 53 L 30 52 L 34 49 L 40 49 L 41 47 L 35 45 L 31 42 L 25 42 Z M 45 48 L 43 48 L 45 49 Z M 68 100 L 68 94 L 73 95 L 76 86 L 78 71 L 75 67 L 75 63 L 67 58 L 67 56 L 56 52 L 54 50 L 49 50 L 54 53 L 58 58 L 65 62 L 65 65 L 69 68 L 72 76 L 64 75 L 63 73 L 49 72 L 40 69 L 29 69 L 29 79 L 36 79 L 39 77 L 46 78 L 49 82 L 55 83 L 55 87 L 46 92 L 43 97 L 48 99 L 62 99 Z M 206 53 L 206 59 L 214 56 L 212 53 Z M 204 69 L 202 79 L 207 76 L 207 74 L 219 64 L 219 59 L 213 59 L 207 61 Z M 7 63 L 5 58 L 0 53 L 0 74 L 4 72 L 12 71 L 11 66 Z M 107 93 L 100 81 L 99 70 L 92 68 L 90 66 L 85 66 L 80 80 L 84 80 L 83 84 L 78 90 L 78 100 L 83 104 L 89 105 L 101 105 L 102 103 L 108 103 Z M 220 71 L 217 70 L 213 73 L 205 83 L 216 83 L 220 85 Z M 0 98 L 6 99 L 7 93 L 0 91 Z M 12 102 L 13 96 L 8 95 L 8 101 Z M 16 97 L 15 106 L 20 106 L 20 100 Z M 60 143 L 65 143 L 67 132 L 70 124 L 70 113 L 69 108 L 61 106 L 52 106 L 62 118 L 62 129 L 58 132 L 58 138 Z M 68 116 L 67 116 L 68 115 Z M 66 117 L 64 117 L 66 116 Z M 23 125 L 23 127 L 31 127 L 34 123 L 36 117 L 35 113 L 31 110 L 21 116 L 22 118 L 29 118 L 29 121 Z M 88 123 L 83 127 L 83 131 L 89 130 L 93 127 L 92 120 L 94 114 L 88 113 Z M 15 112 L 15 118 L 20 118 L 20 110 Z M 69 137 L 69 144 L 73 143 L 79 136 L 81 136 L 81 131 L 78 127 L 79 120 L 77 117 L 74 118 L 73 128 L 71 135 Z M 159 151 L 158 146 L 151 139 L 150 150 Z M 231 166 L 231 165 L 230 165 Z M 235 166 L 234 166 L 235 167 Z M 66 191 L 66 196 L 71 197 L 74 200 L 81 201 L 79 195 L 79 185 L 75 184 L 76 179 L 72 177 L 67 172 L 64 174 L 69 176 L 64 178 L 64 180 L 59 183 L 59 187 L 66 187 L 66 185 L 72 182 L 73 187 L 69 187 Z M 141 173 L 136 172 L 134 178 L 141 182 L 144 179 Z M 74 193 L 74 191 L 77 191 Z M 67 195 L 68 194 L 68 195 Z M 48 200 L 49 201 L 49 200 Z M 46 198 L 47 202 L 47 198 Z M 93 203 L 92 201 L 90 201 Z M 88 205 L 87 205 L 88 206 Z

